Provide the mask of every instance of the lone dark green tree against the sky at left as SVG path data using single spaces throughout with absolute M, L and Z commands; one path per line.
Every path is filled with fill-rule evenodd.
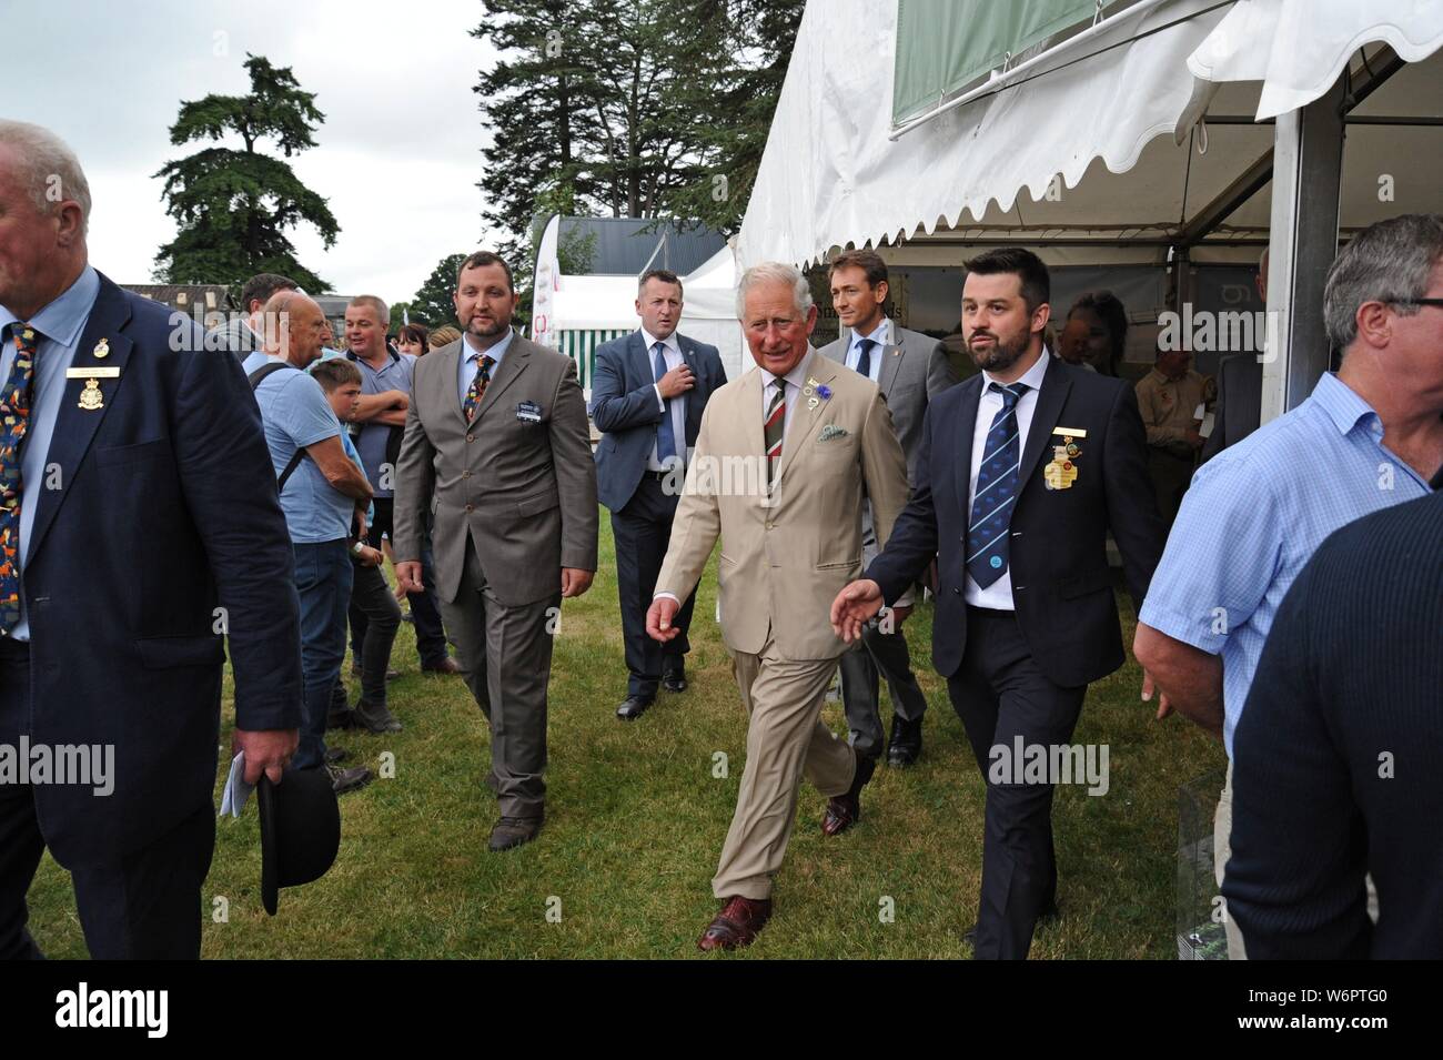
M 156 254 L 156 278 L 234 286 L 257 273 L 280 273 L 319 294 L 329 284 L 296 260 L 286 232 L 302 222 L 315 225 L 329 249 L 341 228 L 326 200 L 276 154 L 289 159 L 315 147 L 312 134 L 326 115 L 289 66 L 247 55 L 245 69 L 250 95 L 182 102 L 170 127 L 176 146 L 234 136 L 244 147 L 206 147 L 154 175 L 166 182 L 162 198 L 177 225 L 176 238 Z M 274 149 L 267 151 L 264 141 Z

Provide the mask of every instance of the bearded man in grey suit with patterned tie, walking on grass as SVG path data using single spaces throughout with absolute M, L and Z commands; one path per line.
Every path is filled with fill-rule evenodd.
M 460 673 L 491 723 L 501 821 L 491 849 L 544 816 L 551 635 L 596 574 L 596 464 L 570 358 L 511 332 L 511 267 L 478 251 L 456 273 L 465 333 L 416 362 L 395 474 L 395 575 L 421 591 L 423 512 Z

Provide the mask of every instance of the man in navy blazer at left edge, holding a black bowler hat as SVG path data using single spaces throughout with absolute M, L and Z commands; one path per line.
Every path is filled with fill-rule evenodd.
M 227 635 L 247 780 L 296 750 L 290 544 L 240 362 L 97 273 L 88 213 L 69 149 L 0 121 L 0 756 L 114 766 L 0 770 L 0 958 L 40 955 L 46 847 L 92 956 L 196 958 Z

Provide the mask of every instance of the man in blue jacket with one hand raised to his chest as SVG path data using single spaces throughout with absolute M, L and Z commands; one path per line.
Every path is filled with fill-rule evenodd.
M 671 539 L 671 519 L 687 456 L 697 444 L 701 412 L 726 382 L 716 346 L 677 332 L 683 291 L 675 273 L 654 268 L 641 277 L 636 314 L 641 329 L 596 349 L 592 421 L 605 433 L 596 447 L 596 493 L 612 512 L 616 587 L 626 642 L 626 698 L 616 717 L 635 721 L 668 692 L 687 688 L 687 629 L 696 593 L 665 645 L 646 636 L 646 609 Z

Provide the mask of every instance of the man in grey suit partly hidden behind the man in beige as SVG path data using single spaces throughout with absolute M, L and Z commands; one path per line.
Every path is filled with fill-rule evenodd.
M 928 402 L 957 382 L 947 349 L 937 339 L 909 332 L 883 313 L 887 300 L 887 267 L 869 249 L 846 251 L 831 262 L 831 304 L 841 320 L 841 336 L 823 355 L 847 365 L 877 384 L 892 412 L 892 425 L 906 454 L 908 479 L 916 472 L 918 441 Z M 863 515 L 863 555 L 872 562 L 877 539 L 872 511 Z M 892 738 L 887 763 L 911 766 L 922 753 L 922 715 L 926 698 L 912 673 L 902 622 L 912 610 L 911 594 L 863 633 L 861 643 L 841 656 L 841 698 L 857 754 L 882 756 L 886 733 L 879 710 L 879 672 L 892 691 Z

